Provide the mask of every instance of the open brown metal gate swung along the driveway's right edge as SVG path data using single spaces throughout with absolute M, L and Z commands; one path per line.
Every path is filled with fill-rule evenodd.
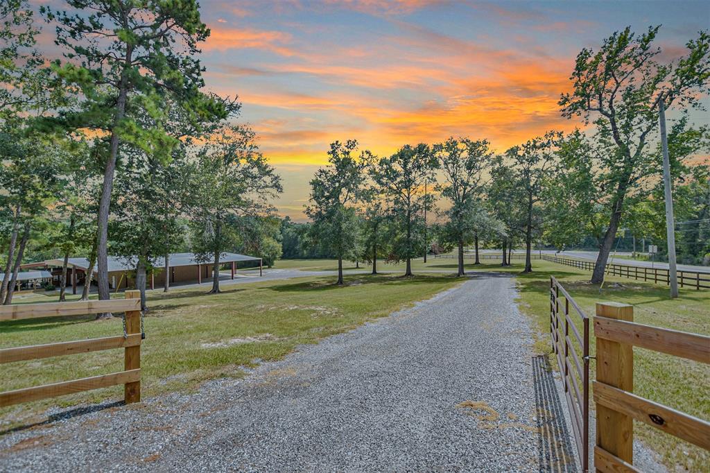
M 564 322 L 559 319 L 562 300 Z M 572 317 L 581 320 L 581 334 Z M 589 317 L 554 277 L 550 277 L 550 335 L 552 351 L 557 356 L 557 366 L 562 374 L 564 397 L 572 420 L 579 461 L 582 472 L 586 473 L 589 471 Z M 574 361 L 574 366 L 570 359 Z

